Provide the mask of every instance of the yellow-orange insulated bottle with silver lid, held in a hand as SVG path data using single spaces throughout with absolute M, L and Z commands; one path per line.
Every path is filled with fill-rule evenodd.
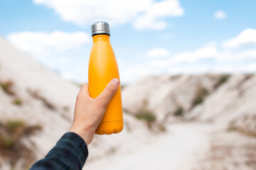
M 93 23 L 92 39 L 88 86 L 90 96 L 96 98 L 112 79 L 119 79 L 119 70 L 114 50 L 110 45 L 110 25 L 102 21 Z M 95 134 L 118 133 L 122 131 L 123 126 L 121 85 L 119 85 Z

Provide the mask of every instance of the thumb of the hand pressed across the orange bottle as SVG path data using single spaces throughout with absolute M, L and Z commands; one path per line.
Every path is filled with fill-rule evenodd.
M 97 96 L 97 100 L 102 101 L 105 107 L 107 107 L 108 103 L 110 103 L 111 98 L 117 92 L 119 84 L 120 84 L 119 79 L 117 78 L 112 79 L 110 83 L 107 84 L 104 91 L 102 91 L 102 93 L 99 96 Z

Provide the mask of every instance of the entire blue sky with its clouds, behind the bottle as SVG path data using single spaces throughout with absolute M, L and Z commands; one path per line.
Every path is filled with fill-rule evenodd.
M 107 21 L 121 81 L 256 72 L 256 1 L 0 0 L 0 35 L 65 79 L 87 81 L 93 21 Z

